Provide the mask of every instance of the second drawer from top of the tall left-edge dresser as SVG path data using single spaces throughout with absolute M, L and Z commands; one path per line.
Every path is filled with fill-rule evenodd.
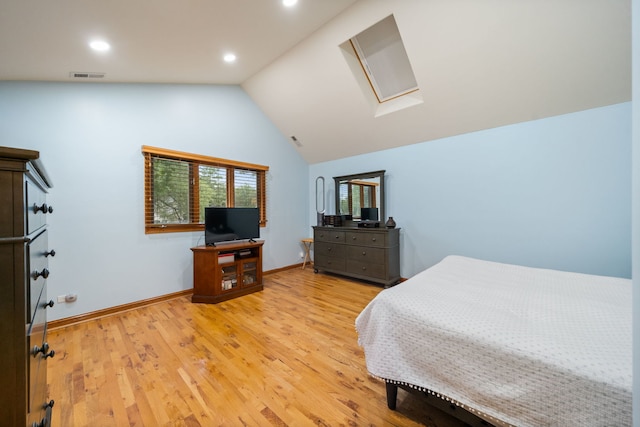
M 27 323 L 31 323 L 34 320 L 40 298 L 42 298 L 41 305 L 44 304 L 44 299 L 46 299 L 46 293 L 44 296 L 41 295 L 47 277 L 49 277 L 49 262 L 45 255 L 48 251 L 47 243 L 47 232 L 44 231 L 27 245 L 27 259 L 29 260 L 27 269 L 29 271 Z

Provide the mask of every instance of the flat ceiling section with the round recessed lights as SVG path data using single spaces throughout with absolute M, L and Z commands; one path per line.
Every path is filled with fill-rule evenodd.
M 0 80 L 240 84 L 355 0 L 0 0 Z M 92 51 L 101 38 L 112 49 Z M 236 53 L 233 65 L 222 56 Z

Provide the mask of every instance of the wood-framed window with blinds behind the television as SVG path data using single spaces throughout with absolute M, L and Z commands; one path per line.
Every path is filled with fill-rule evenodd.
M 259 208 L 265 226 L 268 166 L 155 147 L 144 155 L 145 233 L 204 230 L 204 208 Z

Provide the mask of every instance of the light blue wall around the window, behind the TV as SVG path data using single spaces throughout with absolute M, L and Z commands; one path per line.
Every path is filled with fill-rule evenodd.
M 142 145 L 269 166 L 263 267 L 301 262 L 308 165 L 239 86 L 2 82 L 0 144 L 39 150 L 54 183 L 49 297 L 79 298 L 51 319 L 193 286 L 203 233 L 144 234 Z

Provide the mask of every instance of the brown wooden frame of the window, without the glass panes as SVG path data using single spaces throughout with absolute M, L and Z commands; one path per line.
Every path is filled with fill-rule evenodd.
M 227 206 L 234 206 L 235 185 L 234 171 L 236 169 L 250 170 L 256 172 L 257 178 L 257 205 L 260 212 L 260 227 L 267 224 L 267 191 L 266 173 L 269 166 L 254 163 L 239 162 L 236 160 L 221 159 L 218 157 L 204 156 L 201 154 L 186 153 L 183 151 L 170 150 L 166 148 L 142 146 L 144 156 L 144 232 L 145 234 L 156 233 L 180 233 L 189 231 L 204 231 L 204 223 L 199 222 L 200 212 L 200 192 L 198 166 L 215 166 L 226 169 L 227 174 Z M 189 223 L 185 224 L 156 224 L 153 222 L 153 167 L 152 159 L 160 158 L 167 160 L 178 160 L 187 162 L 189 165 Z

